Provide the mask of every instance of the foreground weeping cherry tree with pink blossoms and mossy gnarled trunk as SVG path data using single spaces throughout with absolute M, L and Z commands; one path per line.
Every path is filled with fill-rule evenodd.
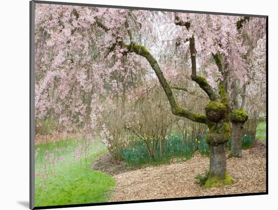
M 208 126 L 206 186 L 233 183 L 225 155 L 235 116 L 230 90 L 235 79 L 246 84 L 257 63 L 263 66 L 265 40 L 259 39 L 261 44 L 248 54 L 250 45 L 238 29 L 243 17 L 41 4 L 36 5 L 35 19 L 36 118 L 59 118 L 61 128 L 82 128 L 88 140 L 107 134 L 105 122 L 99 121 L 107 109 L 103 98 L 126 98 L 135 75 L 152 69 L 150 77 L 159 80 L 172 114 Z M 264 23 L 252 19 L 256 21 L 248 21 L 250 27 Z M 161 56 L 172 62 L 166 66 Z M 175 86 L 163 74 L 166 69 L 175 72 L 171 68 L 180 58 L 191 69 L 184 86 L 190 79 L 206 93 L 209 102 L 203 113 L 181 106 L 173 90 L 192 91 Z M 103 135 L 106 142 L 105 136 L 114 138 Z

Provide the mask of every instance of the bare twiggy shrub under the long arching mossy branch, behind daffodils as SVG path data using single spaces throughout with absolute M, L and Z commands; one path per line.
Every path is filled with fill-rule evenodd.
M 145 83 L 137 94 L 130 98 L 129 122 L 126 125 L 133 135 L 141 139 L 153 159 L 163 156 L 166 133 L 176 118 L 169 112 L 169 102 L 159 83 Z

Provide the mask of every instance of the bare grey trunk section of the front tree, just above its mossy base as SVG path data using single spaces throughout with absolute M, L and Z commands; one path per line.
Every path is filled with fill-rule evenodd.
M 210 177 L 225 177 L 226 172 L 226 142 L 210 145 Z

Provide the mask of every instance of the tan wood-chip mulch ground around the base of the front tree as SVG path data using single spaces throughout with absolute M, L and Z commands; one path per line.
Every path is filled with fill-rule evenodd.
M 181 163 L 131 171 L 120 163 L 114 164 L 112 168 L 110 164 L 110 171 L 109 166 L 100 170 L 109 172 L 117 182 L 110 201 L 265 192 L 265 151 L 265 143 L 256 140 L 250 149 L 243 150 L 241 159 L 227 159 L 227 171 L 235 184 L 217 188 L 202 188 L 194 179 L 197 174 L 204 174 L 209 169 L 209 158 L 201 156 L 199 152 L 191 160 Z

